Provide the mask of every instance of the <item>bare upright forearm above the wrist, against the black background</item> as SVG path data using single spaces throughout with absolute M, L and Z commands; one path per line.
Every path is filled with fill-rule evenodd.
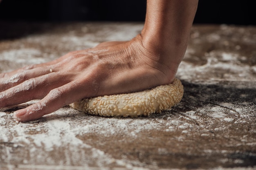
M 154 46 L 157 60 L 166 61 L 166 53 L 175 53 L 180 62 L 186 50 L 198 0 L 148 0 L 143 45 Z M 161 58 L 163 57 L 163 58 Z M 172 57 L 172 62 L 173 62 Z

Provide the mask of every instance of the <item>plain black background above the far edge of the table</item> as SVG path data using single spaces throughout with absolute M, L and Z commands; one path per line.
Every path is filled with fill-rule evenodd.
M 256 25 L 254 0 L 199 0 L 194 23 Z M 0 20 L 144 21 L 146 0 L 2 0 Z

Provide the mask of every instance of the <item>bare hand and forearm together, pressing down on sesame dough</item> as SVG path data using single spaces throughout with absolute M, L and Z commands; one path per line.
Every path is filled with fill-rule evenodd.
M 141 91 L 173 82 L 198 0 L 148 0 L 144 29 L 130 41 L 103 42 L 44 64 L 0 74 L 0 108 L 31 121 L 83 98 Z

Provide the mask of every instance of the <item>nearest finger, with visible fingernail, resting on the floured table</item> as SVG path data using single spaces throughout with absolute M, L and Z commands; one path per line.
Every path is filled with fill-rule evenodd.
M 33 104 L 27 108 L 17 110 L 13 117 L 20 122 L 31 121 L 52 113 L 59 108 L 75 102 L 83 95 L 81 95 L 81 86 L 76 82 L 70 82 L 61 87 L 51 90 L 38 103 Z

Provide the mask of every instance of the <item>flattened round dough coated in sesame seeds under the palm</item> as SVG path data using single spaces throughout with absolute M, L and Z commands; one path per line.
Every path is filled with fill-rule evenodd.
M 104 95 L 82 99 L 70 104 L 76 110 L 100 116 L 137 117 L 161 113 L 179 103 L 183 86 L 179 79 L 173 83 L 144 91 L 118 95 Z

